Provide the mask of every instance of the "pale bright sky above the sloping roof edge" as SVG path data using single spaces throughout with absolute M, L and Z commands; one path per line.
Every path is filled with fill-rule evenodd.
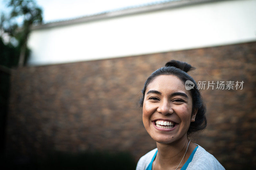
M 7 1 L 0 0 L 0 11 L 6 11 L 4 4 Z M 36 3 L 42 7 L 43 22 L 47 23 L 125 7 L 167 1 L 171 0 L 36 0 Z

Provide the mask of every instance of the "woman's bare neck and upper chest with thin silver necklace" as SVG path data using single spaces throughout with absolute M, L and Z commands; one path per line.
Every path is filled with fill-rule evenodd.
M 183 138 L 181 138 L 177 142 L 171 143 L 171 144 L 161 144 L 156 142 L 158 154 L 154 161 L 155 163 L 154 170 L 176 169 L 186 152 L 186 149 L 188 147 L 188 142 L 189 142 L 189 139 L 187 135 L 185 135 Z M 189 155 L 192 153 L 192 151 L 195 148 L 196 148 L 196 145 L 190 142 L 188 151 L 185 157 L 183 158 L 178 169 L 180 169 L 185 164 L 185 162 L 188 160 Z

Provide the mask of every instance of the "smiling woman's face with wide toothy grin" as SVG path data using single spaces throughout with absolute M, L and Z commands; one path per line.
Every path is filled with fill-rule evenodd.
M 143 124 L 158 143 L 169 144 L 187 137 L 192 114 L 192 97 L 183 82 L 174 75 L 159 75 L 145 92 Z

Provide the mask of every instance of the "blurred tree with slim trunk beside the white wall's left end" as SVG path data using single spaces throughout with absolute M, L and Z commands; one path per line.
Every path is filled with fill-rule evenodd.
M 20 49 L 18 66 L 22 67 L 25 62 L 25 56 L 28 53 L 27 41 L 31 26 L 42 23 L 42 10 L 34 0 L 10 0 L 7 2 L 11 12 L 8 17 L 1 17 L 3 18 L 2 29 L 11 38 L 15 38 L 18 41 Z M 17 19 L 20 18 L 22 19 L 21 25 L 17 22 Z

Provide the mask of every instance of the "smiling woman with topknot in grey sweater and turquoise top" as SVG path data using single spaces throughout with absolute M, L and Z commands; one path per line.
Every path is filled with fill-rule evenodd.
M 142 156 L 136 170 L 224 169 L 188 134 L 206 127 L 205 107 L 188 63 L 171 60 L 147 79 L 140 105 L 143 124 L 157 148 Z M 186 90 L 185 82 L 195 86 Z

